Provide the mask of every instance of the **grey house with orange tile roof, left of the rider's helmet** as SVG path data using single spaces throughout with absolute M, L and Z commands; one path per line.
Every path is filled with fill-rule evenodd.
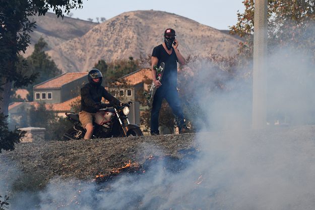
M 33 87 L 34 102 L 63 103 L 80 95 L 88 82 L 87 72 L 65 73 Z

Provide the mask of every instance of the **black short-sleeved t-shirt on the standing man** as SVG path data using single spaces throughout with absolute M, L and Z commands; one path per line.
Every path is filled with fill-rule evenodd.
M 173 48 L 173 47 L 172 47 Z M 152 56 L 159 59 L 157 66 L 159 67 L 162 62 L 165 64 L 163 77 L 161 80 L 162 85 L 177 86 L 177 63 L 178 59 L 175 54 L 174 48 L 171 55 L 167 53 L 163 45 L 160 44 L 154 47 Z

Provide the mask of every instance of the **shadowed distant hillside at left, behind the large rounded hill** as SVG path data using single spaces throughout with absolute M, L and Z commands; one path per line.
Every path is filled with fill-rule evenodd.
M 52 49 L 62 42 L 70 39 L 80 37 L 86 34 L 91 28 L 98 25 L 98 23 L 92 23 L 89 21 L 64 17 L 57 18 L 54 13 L 46 13 L 45 16 L 33 16 L 31 17 L 36 21 L 36 29 L 30 33 L 31 44 L 27 48 L 26 53 L 23 54 L 27 57 L 32 54 L 34 50 L 34 44 L 42 36 L 48 43 L 46 50 Z

